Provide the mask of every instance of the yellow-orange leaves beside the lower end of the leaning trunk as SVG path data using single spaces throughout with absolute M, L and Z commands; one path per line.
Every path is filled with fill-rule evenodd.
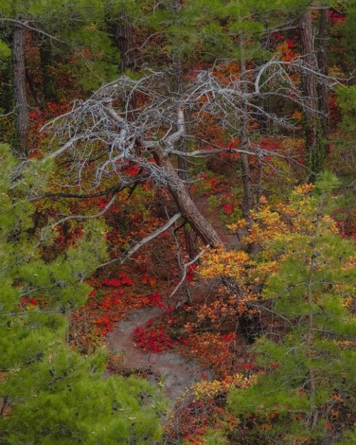
M 270 205 L 265 198 L 260 201 L 259 208 L 251 213 L 252 224 L 246 220 L 238 220 L 229 225 L 229 229 L 246 229 L 248 234 L 242 244 L 257 247 L 253 254 L 244 251 L 209 251 L 202 257 L 198 271 L 204 278 L 224 275 L 236 279 L 240 289 L 240 305 L 238 312 L 246 307 L 246 296 L 256 298 L 256 292 L 264 288 L 266 281 L 275 275 L 279 265 L 285 260 L 285 252 L 293 249 L 294 257 L 298 257 L 297 246 L 303 246 L 305 237 L 330 236 L 338 233 L 335 221 L 322 212 L 317 211 L 318 196 L 311 192 L 313 184 L 303 184 L 294 189 L 290 203 Z M 292 247 L 293 246 L 293 247 Z M 251 249 L 250 249 L 251 250 Z M 257 251 L 257 253 L 256 253 Z M 355 268 L 355 259 L 348 260 L 344 268 Z M 342 292 L 344 305 L 351 305 L 351 292 Z M 243 296 L 243 298 L 241 298 Z M 212 315 L 212 314 L 210 314 Z M 214 318 L 205 316 L 214 321 Z M 223 318 L 223 314 L 222 318 Z

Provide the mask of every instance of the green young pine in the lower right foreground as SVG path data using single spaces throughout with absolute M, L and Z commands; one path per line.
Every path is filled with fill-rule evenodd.
M 283 342 L 268 335 L 257 340 L 253 351 L 264 373 L 255 385 L 229 395 L 233 414 L 257 420 L 247 435 L 259 444 L 319 443 L 329 422 L 352 424 L 356 325 L 347 305 L 356 285 L 356 251 L 325 213 L 336 186 L 335 177 L 325 173 L 313 196 L 292 194 L 290 205 L 303 227 L 276 233 L 261 253 L 278 263 L 263 296 L 274 301 L 277 317 L 288 320 L 288 333 Z

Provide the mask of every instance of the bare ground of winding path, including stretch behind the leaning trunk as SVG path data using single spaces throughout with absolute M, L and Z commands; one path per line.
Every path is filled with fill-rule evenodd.
M 201 213 L 218 231 L 227 249 L 238 248 L 240 242 L 235 234 L 227 229 L 220 220 L 218 211 L 209 207 L 207 195 L 196 199 L 196 205 Z M 209 290 L 202 284 L 190 285 L 192 301 L 206 298 Z M 207 292 L 207 294 L 206 294 Z M 166 303 L 172 302 L 168 301 Z M 119 357 L 119 370 L 124 372 L 138 372 L 151 383 L 158 383 L 164 388 L 164 393 L 174 403 L 179 394 L 193 383 L 213 379 L 213 372 L 191 358 L 182 355 L 179 348 L 172 348 L 160 352 L 147 351 L 138 344 L 137 329 L 145 329 L 153 320 L 160 320 L 164 314 L 161 307 L 143 306 L 128 312 L 120 320 L 113 331 L 107 335 L 107 348 L 115 357 Z

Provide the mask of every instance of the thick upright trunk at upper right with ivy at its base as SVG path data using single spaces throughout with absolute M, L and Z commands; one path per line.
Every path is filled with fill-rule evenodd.
M 302 84 L 306 100 L 305 109 L 305 136 L 309 166 L 312 170 L 312 179 L 323 168 L 324 147 L 322 147 L 322 129 L 318 114 L 318 60 L 314 47 L 312 12 L 308 9 L 300 19 L 301 49 L 305 66 L 303 69 Z M 311 70 L 311 71 L 309 71 Z

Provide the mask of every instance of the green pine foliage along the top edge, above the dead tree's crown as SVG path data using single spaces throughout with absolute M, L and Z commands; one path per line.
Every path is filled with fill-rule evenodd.
M 285 14 L 296 13 L 307 5 L 303 0 L 282 0 L 278 5 L 264 0 L 188 0 L 183 4 L 161 1 L 156 8 L 147 0 L 136 2 L 136 7 L 132 3 L 124 1 L 123 9 L 133 23 L 162 34 L 167 54 L 194 58 L 196 62 L 240 58 L 240 37 L 244 39 L 246 55 L 266 55 L 259 41 L 264 31 L 283 23 Z M 153 47 L 149 51 L 154 51 Z

